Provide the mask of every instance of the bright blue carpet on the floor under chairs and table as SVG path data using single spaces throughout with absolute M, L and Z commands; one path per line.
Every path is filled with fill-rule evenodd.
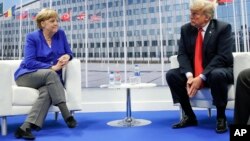
M 216 134 L 216 117 L 207 117 L 207 111 L 195 111 L 199 126 L 184 129 L 172 129 L 171 125 L 179 120 L 178 111 L 134 112 L 133 116 L 151 120 L 152 123 L 142 127 L 110 127 L 106 123 L 121 119 L 123 112 L 76 113 L 78 127 L 69 129 L 62 117 L 58 121 L 49 113 L 44 128 L 35 132 L 36 141 L 229 141 L 229 132 Z M 216 112 L 212 111 L 212 115 Z M 233 111 L 227 111 L 229 123 L 233 120 Z M 16 140 L 15 129 L 25 119 L 25 116 L 8 118 L 8 135 L 0 136 L 1 141 Z

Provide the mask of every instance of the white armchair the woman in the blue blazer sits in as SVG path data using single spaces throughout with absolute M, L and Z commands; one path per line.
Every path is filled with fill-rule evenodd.
M 14 81 L 14 72 L 21 60 L 0 61 L 0 118 L 1 133 L 7 134 L 7 117 L 28 114 L 33 103 L 38 98 L 38 90 L 28 87 L 19 87 Z M 81 63 L 73 59 L 63 70 L 67 106 L 71 112 L 81 110 Z M 59 112 L 51 106 L 50 112 Z

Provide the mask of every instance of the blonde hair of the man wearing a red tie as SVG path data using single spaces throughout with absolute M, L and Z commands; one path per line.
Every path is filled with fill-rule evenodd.
M 192 0 L 190 3 L 190 10 L 201 11 L 210 19 L 214 18 L 214 10 L 216 7 L 216 0 Z

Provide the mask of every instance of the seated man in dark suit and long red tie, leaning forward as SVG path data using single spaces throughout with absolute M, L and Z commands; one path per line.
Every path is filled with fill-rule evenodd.
M 211 88 L 213 104 L 217 108 L 216 132 L 227 131 L 225 109 L 227 105 L 228 84 L 233 83 L 233 38 L 231 25 L 216 19 L 215 3 L 206 0 L 193 0 L 190 5 L 190 23 L 181 27 L 178 62 L 180 67 L 166 74 L 174 103 L 179 102 L 183 119 L 173 128 L 184 128 L 198 124 L 189 102 L 197 90 Z M 201 32 L 202 56 L 196 58 L 197 34 Z M 201 36 L 202 35 L 202 36 Z M 196 59 L 195 59 L 196 58 Z M 201 72 L 195 71 L 195 62 L 200 61 Z

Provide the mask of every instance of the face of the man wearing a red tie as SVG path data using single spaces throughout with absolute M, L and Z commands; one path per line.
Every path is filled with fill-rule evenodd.
M 190 11 L 190 22 L 191 25 L 201 28 L 207 24 L 209 21 L 209 17 L 206 16 L 203 12 L 201 11 Z

